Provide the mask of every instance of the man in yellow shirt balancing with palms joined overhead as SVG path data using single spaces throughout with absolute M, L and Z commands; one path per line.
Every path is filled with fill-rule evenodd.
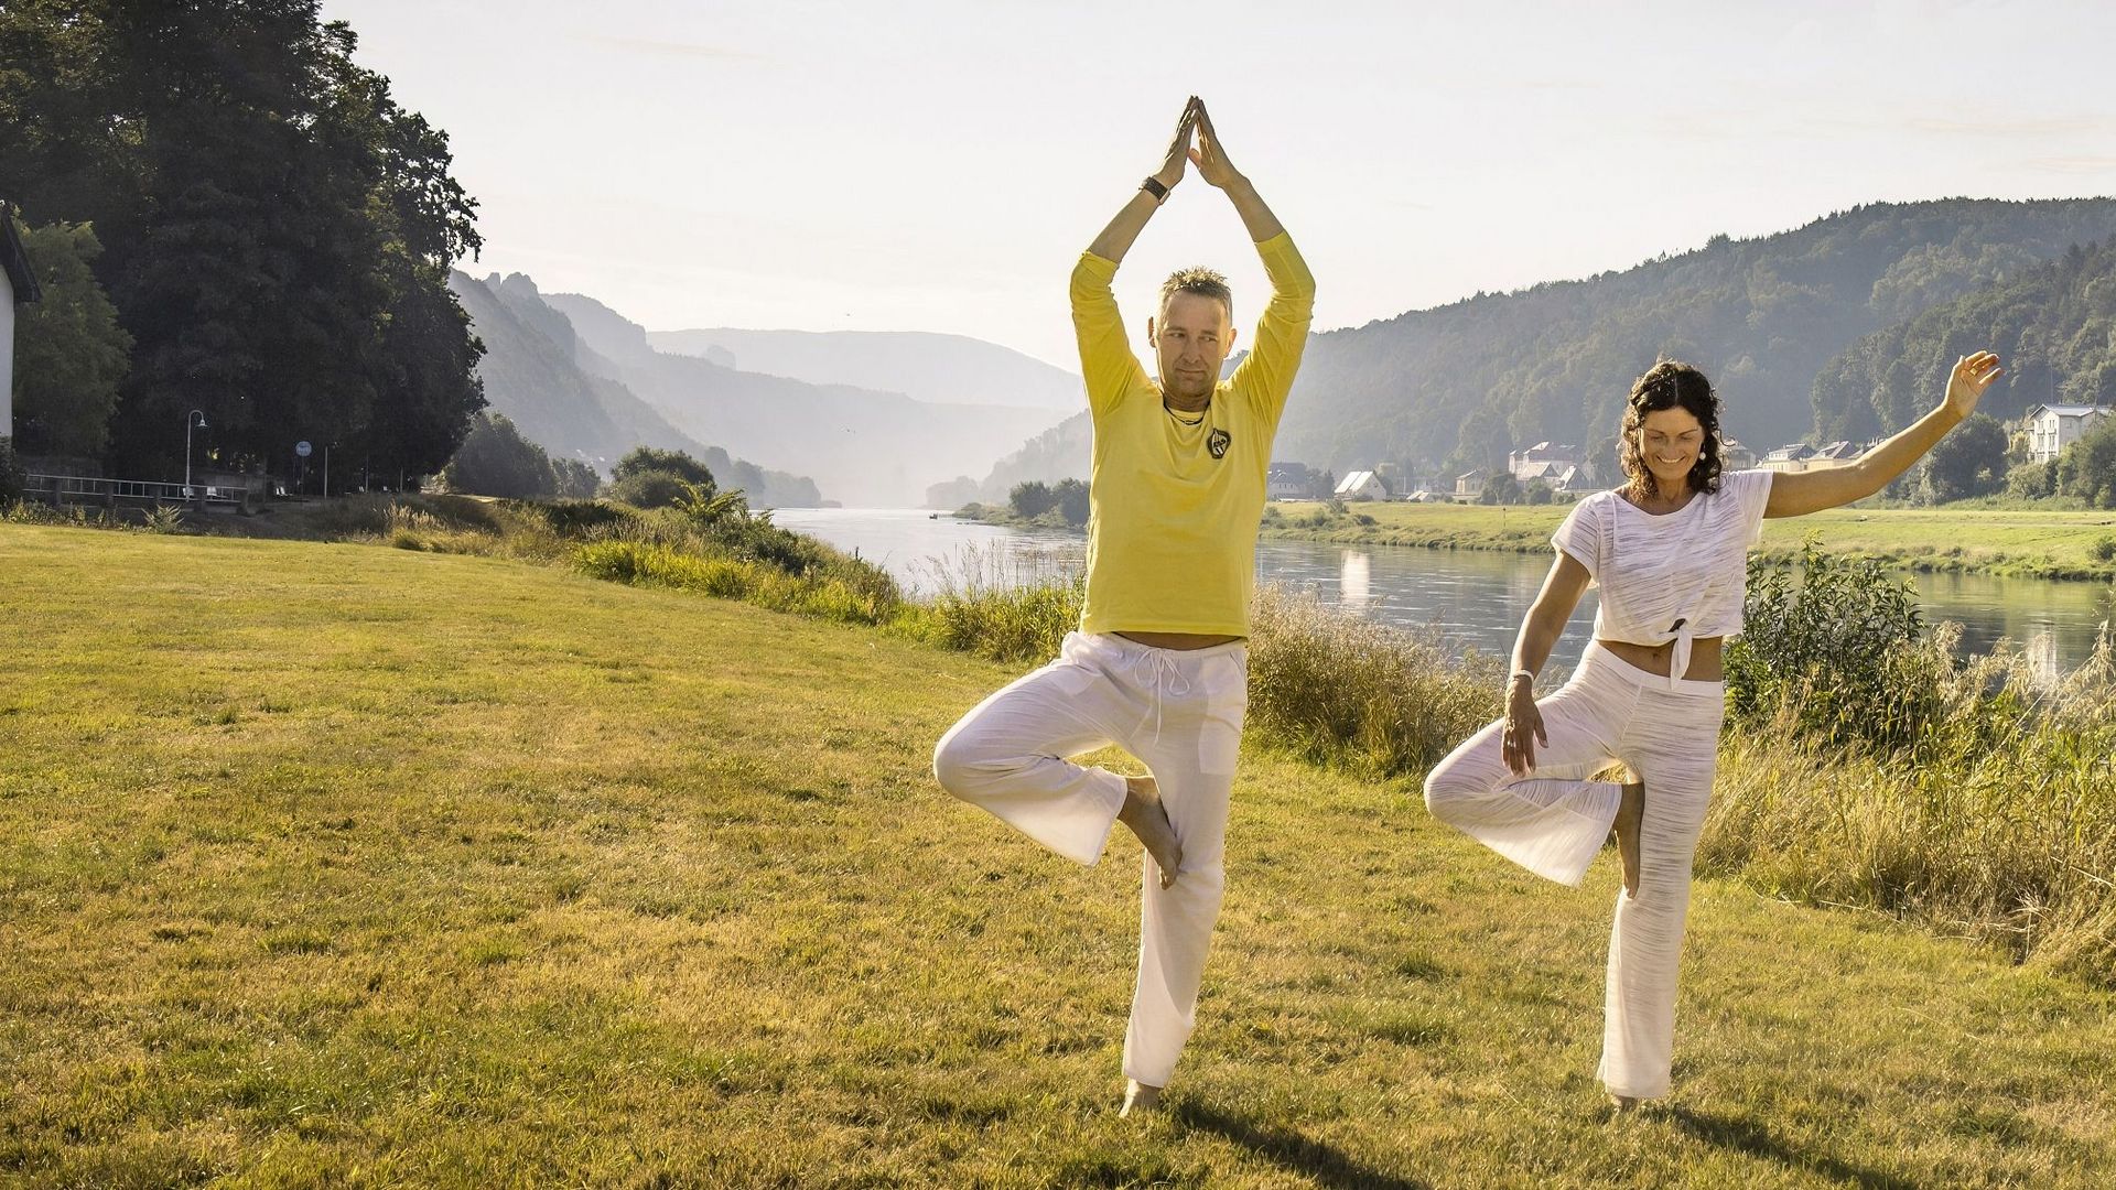
M 1236 339 L 1225 277 L 1185 269 L 1162 284 L 1147 320 L 1153 377 L 1126 343 L 1109 288 L 1185 165 L 1227 195 L 1272 277 L 1257 343 L 1225 381 Z M 1094 864 L 1117 822 L 1145 845 L 1124 1114 L 1160 1103 L 1196 1021 L 1248 703 L 1242 642 L 1263 476 L 1312 311 L 1308 265 L 1191 95 L 1162 167 L 1073 269 L 1094 417 L 1081 627 L 1058 661 L 980 703 L 933 750 L 942 788 L 1060 855 Z M 1151 777 L 1066 760 L 1111 743 Z

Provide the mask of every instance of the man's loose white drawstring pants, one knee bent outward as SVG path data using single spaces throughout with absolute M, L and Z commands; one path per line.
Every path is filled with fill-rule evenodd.
M 1183 845 L 1174 887 L 1145 858 L 1138 987 L 1124 1074 L 1166 1086 L 1189 1040 L 1204 955 L 1219 919 L 1227 792 L 1248 705 L 1248 650 L 1232 642 L 1168 650 L 1071 633 L 1043 669 L 963 716 L 933 750 L 950 794 L 1079 864 L 1102 855 L 1124 809 L 1124 777 L 1066 756 L 1111 743 L 1145 762 Z

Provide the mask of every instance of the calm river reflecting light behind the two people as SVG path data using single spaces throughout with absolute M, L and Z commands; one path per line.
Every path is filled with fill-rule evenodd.
M 935 589 L 935 565 L 959 565 L 965 548 L 1016 567 L 1079 565 L 1073 534 L 1024 534 L 899 508 L 781 508 L 777 523 L 857 551 L 916 593 Z M 1439 629 L 1462 646 L 1504 654 L 1543 587 L 1549 555 L 1257 542 L 1259 582 L 1310 591 L 1329 606 L 1382 623 Z M 1989 652 L 2000 637 L 2027 646 L 2046 671 L 2072 669 L 2093 650 L 2105 589 L 1976 574 L 1911 576 L 1928 620 L 1959 620 L 1964 652 Z M 1589 591 L 1553 656 L 1570 667 L 1587 646 L 1595 597 Z

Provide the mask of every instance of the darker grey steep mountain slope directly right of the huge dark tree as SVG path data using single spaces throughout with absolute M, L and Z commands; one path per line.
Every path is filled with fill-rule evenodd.
M 540 301 L 521 273 L 485 282 L 455 271 L 449 290 L 485 343 L 478 379 L 493 413 L 546 451 L 588 462 L 601 472 L 633 447 L 686 451 L 705 462 L 722 487 L 741 487 L 760 506 L 815 506 L 817 485 L 798 474 L 768 472 L 719 447 L 683 434 L 628 387 L 582 366 L 584 347 L 571 322 Z

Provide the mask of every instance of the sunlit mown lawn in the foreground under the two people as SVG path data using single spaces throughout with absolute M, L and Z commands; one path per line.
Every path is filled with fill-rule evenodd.
M 931 741 L 1014 667 L 501 559 L 0 525 L 0 1182 L 2105 1186 L 2116 995 L 1701 881 L 1667 1105 L 1587 891 L 1253 754 L 1113 1116 L 1136 849 Z

